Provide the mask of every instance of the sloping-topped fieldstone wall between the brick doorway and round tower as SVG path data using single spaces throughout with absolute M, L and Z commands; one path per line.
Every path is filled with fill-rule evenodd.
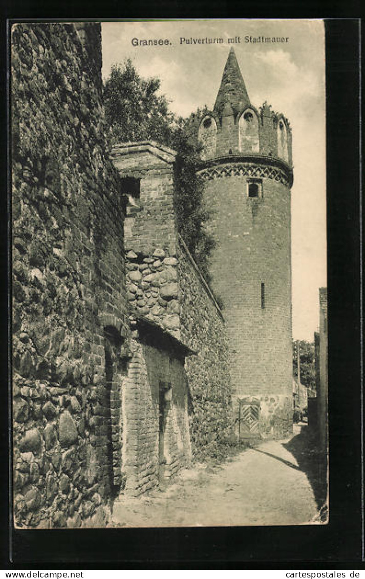
M 226 326 L 185 245 L 178 245 L 181 335 L 186 358 L 193 456 L 222 456 L 233 433 Z

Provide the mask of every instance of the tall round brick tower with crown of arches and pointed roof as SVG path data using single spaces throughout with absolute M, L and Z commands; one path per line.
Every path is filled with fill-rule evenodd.
M 249 100 L 233 48 L 213 111 L 198 119 L 205 203 L 217 240 L 212 288 L 230 340 L 236 432 L 281 437 L 293 428 L 290 188 L 287 119 Z

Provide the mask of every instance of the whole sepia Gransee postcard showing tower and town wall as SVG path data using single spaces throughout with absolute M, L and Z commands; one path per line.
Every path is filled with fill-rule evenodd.
M 325 86 L 323 20 L 12 25 L 16 529 L 330 521 Z

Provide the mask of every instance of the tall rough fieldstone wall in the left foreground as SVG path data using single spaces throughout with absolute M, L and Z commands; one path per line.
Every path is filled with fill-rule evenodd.
M 100 26 L 78 28 L 12 29 L 19 527 L 104 526 L 111 486 L 122 483 L 111 418 L 119 410 L 110 398 L 120 390 L 117 360 L 129 331 L 124 207 L 103 137 Z M 114 386 L 105 375 L 105 327 L 119 336 Z

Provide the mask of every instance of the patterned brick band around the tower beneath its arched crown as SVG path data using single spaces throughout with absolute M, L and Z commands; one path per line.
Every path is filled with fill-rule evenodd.
M 276 167 L 267 167 L 256 163 L 227 163 L 204 168 L 198 171 L 198 174 L 207 181 L 219 179 L 220 177 L 264 177 L 289 186 L 289 179 L 284 171 Z

